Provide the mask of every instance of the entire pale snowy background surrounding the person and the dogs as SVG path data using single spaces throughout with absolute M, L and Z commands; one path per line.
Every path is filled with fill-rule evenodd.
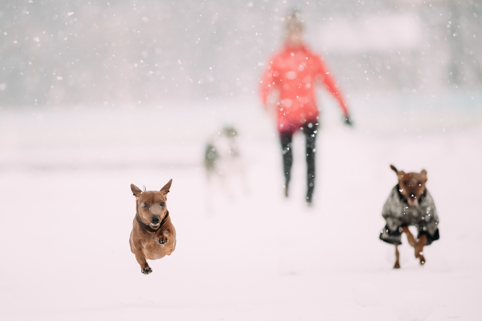
M 320 93 L 307 208 L 302 137 L 286 200 L 277 134 L 253 93 L 295 1 L 43 2 L 0 9 L 1 320 L 481 314 L 480 3 L 300 5 L 355 120 L 342 126 Z M 362 27 L 368 20 L 375 27 Z M 225 124 L 240 132 L 249 186 L 230 180 L 233 198 L 208 188 L 202 167 Z M 402 268 L 391 269 L 393 246 L 378 239 L 396 184 L 389 164 L 428 171 L 441 239 L 424 267 L 403 237 Z M 171 178 L 176 250 L 144 275 L 128 245 L 129 185 Z

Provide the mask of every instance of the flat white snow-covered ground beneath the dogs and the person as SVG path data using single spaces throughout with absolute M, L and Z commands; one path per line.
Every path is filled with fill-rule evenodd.
M 350 129 L 325 109 L 310 209 L 301 136 L 285 200 L 278 141 L 253 103 L 0 110 L 0 319 L 476 320 L 480 122 L 405 131 L 377 115 L 376 128 L 359 109 L 372 122 Z M 233 199 L 207 188 L 201 167 L 224 123 L 239 128 L 249 185 L 231 180 Z M 441 239 L 424 267 L 405 239 L 391 269 L 394 248 L 378 239 L 389 164 L 428 171 Z M 129 185 L 171 178 L 176 250 L 144 275 L 128 244 Z

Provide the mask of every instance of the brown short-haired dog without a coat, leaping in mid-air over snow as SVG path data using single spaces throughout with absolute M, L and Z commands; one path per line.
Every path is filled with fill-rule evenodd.
M 135 218 L 129 244 L 144 274 L 152 272 L 146 259 L 157 260 L 171 255 L 176 248 L 176 230 L 166 204 L 172 182 L 169 180 L 159 192 L 143 192 L 131 184 L 135 196 Z

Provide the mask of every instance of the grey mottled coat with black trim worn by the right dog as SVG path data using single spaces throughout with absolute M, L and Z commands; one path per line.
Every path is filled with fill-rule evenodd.
M 426 245 L 439 239 L 439 217 L 432 195 L 427 189 L 415 206 L 409 206 L 397 184 L 383 205 L 382 216 L 387 222 L 380 232 L 382 241 L 390 244 L 402 244 L 402 228 L 410 225 L 417 228 L 417 238 L 423 234 L 427 235 Z

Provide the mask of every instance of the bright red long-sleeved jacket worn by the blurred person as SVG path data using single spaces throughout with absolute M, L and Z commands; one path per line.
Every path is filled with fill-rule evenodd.
M 324 83 L 348 116 L 347 105 L 325 63 L 305 46 L 285 46 L 269 60 L 260 83 L 261 100 L 266 105 L 271 90 L 280 93 L 278 130 L 295 131 L 305 123 L 318 123 L 317 85 Z

